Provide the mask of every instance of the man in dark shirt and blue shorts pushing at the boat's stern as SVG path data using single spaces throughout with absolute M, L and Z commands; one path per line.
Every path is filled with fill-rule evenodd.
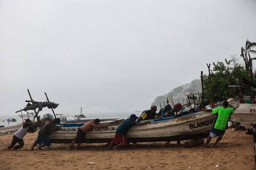
M 46 123 L 42 126 L 40 131 L 38 132 L 38 136 L 34 144 L 32 145 L 30 150 L 33 150 L 34 147 L 39 144 L 39 150 L 42 150 L 42 147 L 50 147 L 51 142 L 49 139 L 49 135 L 52 131 L 60 129 L 60 127 L 55 127 L 56 124 L 60 123 L 60 119 L 56 118 L 53 120 L 47 120 Z

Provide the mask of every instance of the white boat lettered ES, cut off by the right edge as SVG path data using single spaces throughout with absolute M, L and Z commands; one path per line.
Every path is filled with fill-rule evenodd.
M 250 123 L 256 122 L 256 104 L 240 104 L 231 115 L 232 121 L 241 123 L 245 128 L 251 129 Z

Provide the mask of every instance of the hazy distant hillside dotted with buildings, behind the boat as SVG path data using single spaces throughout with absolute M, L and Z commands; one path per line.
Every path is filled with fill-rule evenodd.
M 178 86 L 174 88 L 171 92 L 168 92 L 167 94 L 164 94 L 163 96 L 158 96 L 152 103 L 152 105 L 158 106 L 160 108 L 160 103 L 161 106 L 164 107 L 164 102 L 166 104 L 166 100 L 168 97 L 168 100 L 170 101 L 171 95 L 174 100 L 174 104 L 180 102 L 181 104 L 186 103 L 187 95 L 193 95 L 198 98 L 198 92 L 202 93 L 202 86 L 201 86 L 201 80 L 196 79 L 193 80 L 191 83 L 184 84 L 182 86 Z M 171 104 L 171 102 L 170 102 Z M 172 106 L 172 104 L 171 104 Z M 159 110 L 159 109 L 158 109 Z

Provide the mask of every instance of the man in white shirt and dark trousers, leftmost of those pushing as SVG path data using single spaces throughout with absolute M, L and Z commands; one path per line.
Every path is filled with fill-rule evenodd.
M 26 133 L 28 132 L 28 128 L 30 125 L 32 125 L 31 123 L 32 121 L 30 119 L 26 119 L 26 122 L 23 123 L 23 125 L 20 127 L 20 129 L 18 131 L 16 131 L 12 137 L 12 143 L 9 147 L 7 147 L 8 150 L 10 149 L 21 149 L 24 146 L 24 141 L 23 141 L 23 137 L 26 135 Z M 18 143 L 19 145 L 16 145 L 16 143 Z M 14 145 L 16 145 L 14 147 Z

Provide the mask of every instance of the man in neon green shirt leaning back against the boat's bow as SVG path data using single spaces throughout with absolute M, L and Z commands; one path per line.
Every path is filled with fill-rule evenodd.
M 228 106 L 230 108 L 228 108 Z M 212 111 L 212 114 L 216 114 L 216 113 L 218 114 L 215 125 L 214 127 L 212 127 L 210 135 L 206 140 L 206 145 L 205 145 L 206 148 L 212 138 L 219 135 L 213 147 L 215 147 L 217 143 L 222 139 L 226 130 L 226 124 L 227 124 L 228 118 L 233 113 L 234 110 L 235 108 L 232 105 L 228 104 L 228 101 L 223 102 L 223 107 L 218 107 L 216 109 L 202 109 L 202 111 Z

